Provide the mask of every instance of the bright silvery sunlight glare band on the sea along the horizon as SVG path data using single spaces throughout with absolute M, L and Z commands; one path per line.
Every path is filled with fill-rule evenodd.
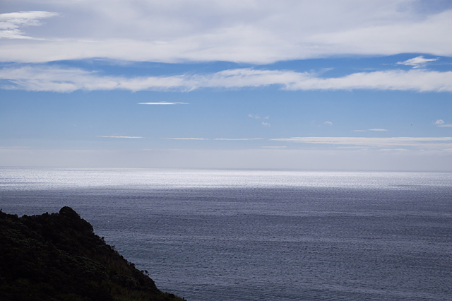
M 302 172 L 278 170 L 158 170 L 0 168 L 3 189 L 140 189 L 359 187 L 416 189 L 448 186 L 446 172 Z

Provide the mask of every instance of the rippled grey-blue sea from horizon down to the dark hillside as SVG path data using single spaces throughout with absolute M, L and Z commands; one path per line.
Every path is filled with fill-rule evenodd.
M 452 173 L 0 168 L 62 206 L 189 301 L 452 300 Z

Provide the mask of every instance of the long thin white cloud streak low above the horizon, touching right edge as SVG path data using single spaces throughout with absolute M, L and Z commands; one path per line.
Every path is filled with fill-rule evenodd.
M 273 138 L 271 141 L 291 141 L 298 143 L 332 144 L 347 146 L 370 146 L 376 148 L 391 146 L 415 146 L 446 149 L 452 146 L 452 137 L 292 137 Z

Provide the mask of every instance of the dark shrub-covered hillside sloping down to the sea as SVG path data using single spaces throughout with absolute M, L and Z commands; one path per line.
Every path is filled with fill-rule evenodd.
M 69 207 L 0 211 L 0 300 L 183 300 L 162 293 Z

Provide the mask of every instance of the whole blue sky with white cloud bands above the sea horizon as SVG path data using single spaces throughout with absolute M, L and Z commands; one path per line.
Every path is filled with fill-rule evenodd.
M 0 166 L 452 172 L 450 0 L 2 0 Z

